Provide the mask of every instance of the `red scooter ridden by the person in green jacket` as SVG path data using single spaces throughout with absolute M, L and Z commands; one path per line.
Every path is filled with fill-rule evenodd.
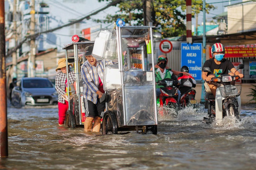
M 182 73 L 181 73 L 182 74 Z M 182 74 L 183 75 L 183 74 Z M 167 78 L 157 82 L 157 84 L 162 85 L 164 87 L 160 87 L 161 94 L 157 99 L 157 105 L 160 107 L 159 114 L 161 116 L 164 115 L 164 109 L 168 111 L 168 114 L 171 116 L 178 116 L 178 93 L 177 89 L 180 86 L 180 81 L 175 81 L 173 79 Z M 170 109 L 174 109 L 175 112 Z

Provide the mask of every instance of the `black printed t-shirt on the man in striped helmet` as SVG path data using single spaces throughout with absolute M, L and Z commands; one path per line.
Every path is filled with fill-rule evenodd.
M 216 75 L 216 77 L 219 77 L 222 74 L 228 74 L 228 71 L 234 68 L 234 65 L 231 63 L 231 61 L 227 59 L 223 59 L 221 61 L 221 64 L 218 65 L 214 62 L 214 58 L 211 58 L 209 60 L 206 60 L 206 62 L 203 65 L 203 68 L 204 67 L 210 67 L 211 72 L 213 72 Z M 209 74 L 212 74 L 212 73 L 208 72 L 207 76 Z

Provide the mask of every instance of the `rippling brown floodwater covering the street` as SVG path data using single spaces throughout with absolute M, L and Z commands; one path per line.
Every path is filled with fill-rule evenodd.
M 256 169 L 255 105 L 241 121 L 217 127 L 201 122 L 203 106 L 178 118 L 159 118 L 158 134 L 84 133 L 58 126 L 58 108 L 8 107 L 8 158 L 0 169 Z

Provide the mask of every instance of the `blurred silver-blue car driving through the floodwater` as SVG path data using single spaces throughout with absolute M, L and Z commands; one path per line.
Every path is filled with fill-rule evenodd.
M 49 79 L 23 77 L 12 90 L 11 103 L 14 106 L 51 105 L 58 103 L 58 93 Z

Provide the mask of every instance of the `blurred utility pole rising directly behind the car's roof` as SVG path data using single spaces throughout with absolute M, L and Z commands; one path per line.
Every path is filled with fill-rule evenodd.
M 32 35 L 31 41 L 30 41 L 30 62 L 28 60 L 28 71 L 29 77 L 35 77 L 35 37 L 33 35 L 35 34 L 35 0 L 31 1 L 31 20 L 30 20 L 30 35 Z

